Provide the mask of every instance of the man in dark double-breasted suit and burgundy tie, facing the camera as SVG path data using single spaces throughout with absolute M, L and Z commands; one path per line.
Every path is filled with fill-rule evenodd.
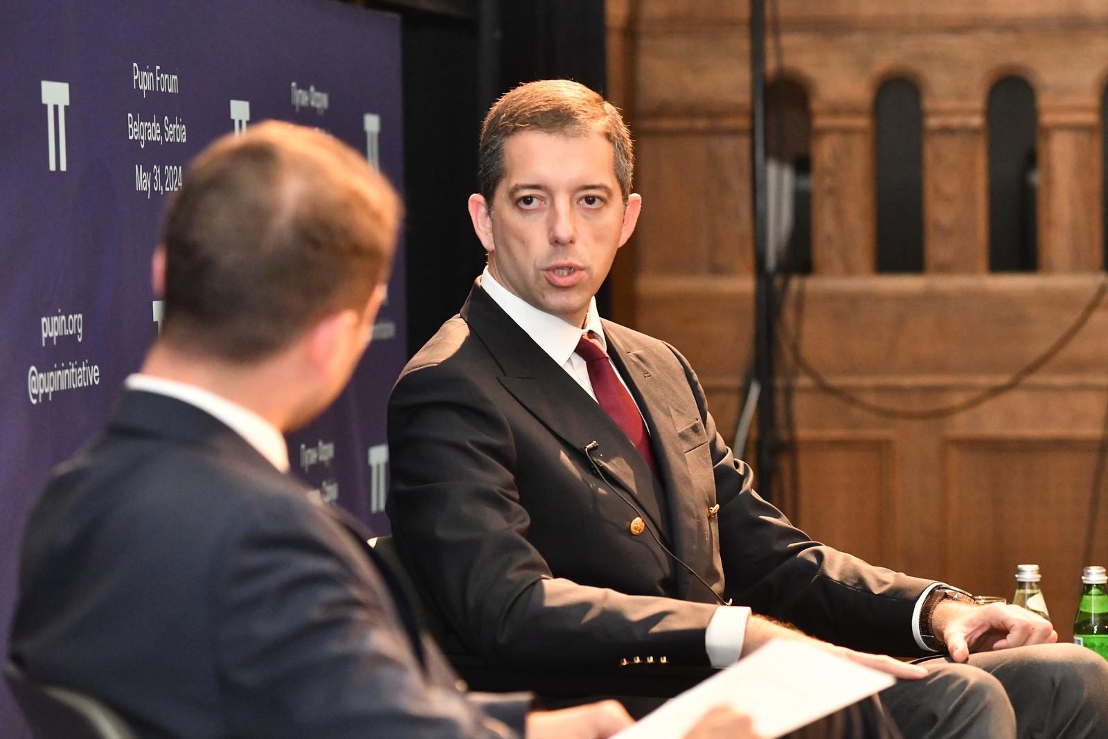
M 618 112 L 576 83 L 522 85 L 485 119 L 469 209 L 488 268 L 389 406 L 394 538 L 451 646 L 719 667 L 803 632 L 902 678 L 882 700 L 910 737 L 1108 731 L 1104 660 L 810 541 L 753 492 L 684 357 L 598 317 L 642 207 L 632 168 Z M 926 668 L 865 654 L 940 649 Z

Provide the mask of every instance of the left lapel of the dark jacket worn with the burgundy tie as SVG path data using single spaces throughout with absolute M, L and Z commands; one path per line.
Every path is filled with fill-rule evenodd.
M 501 384 L 552 433 L 573 448 L 591 469 L 584 448 L 597 443 L 592 456 L 611 484 L 626 490 L 639 510 L 661 531 L 663 515 L 650 490 L 654 473 L 623 429 L 604 409 L 489 295 L 474 285 L 462 307 L 462 318 L 500 365 Z

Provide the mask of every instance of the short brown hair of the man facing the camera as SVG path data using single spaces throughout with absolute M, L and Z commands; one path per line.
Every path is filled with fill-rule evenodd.
M 492 208 L 496 186 L 504 178 L 504 143 L 522 131 L 577 136 L 603 133 L 615 153 L 616 179 L 624 203 L 630 195 L 635 148 L 630 131 L 615 105 L 579 82 L 540 80 L 504 93 L 485 115 L 478 147 L 478 186 Z

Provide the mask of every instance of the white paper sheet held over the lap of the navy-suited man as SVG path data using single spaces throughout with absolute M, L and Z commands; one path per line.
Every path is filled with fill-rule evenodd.
M 766 739 L 811 723 L 895 678 L 803 642 L 774 639 L 624 729 L 616 739 L 680 739 L 710 708 L 727 704 Z

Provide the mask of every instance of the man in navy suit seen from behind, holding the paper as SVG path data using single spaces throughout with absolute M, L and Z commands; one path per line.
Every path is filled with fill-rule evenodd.
M 144 737 L 586 739 L 629 722 L 611 701 L 527 716 L 527 696 L 466 696 L 359 523 L 286 474 L 283 432 L 369 342 L 399 209 L 309 129 L 255 126 L 193 163 L 154 259 L 163 333 L 27 528 L 10 649 L 30 678 Z

